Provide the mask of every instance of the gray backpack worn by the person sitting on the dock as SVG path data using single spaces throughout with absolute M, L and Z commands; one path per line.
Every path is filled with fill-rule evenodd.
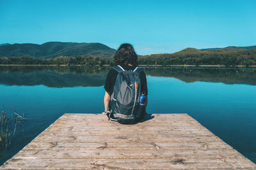
M 129 124 L 134 122 L 140 105 L 141 69 L 136 67 L 125 71 L 121 66 L 115 66 L 114 69 L 118 71 L 118 75 L 109 101 L 109 119 Z

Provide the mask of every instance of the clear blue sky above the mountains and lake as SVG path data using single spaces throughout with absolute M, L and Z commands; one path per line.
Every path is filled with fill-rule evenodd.
M 0 43 L 131 43 L 141 55 L 256 45 L 255 0 L 0 0 Z

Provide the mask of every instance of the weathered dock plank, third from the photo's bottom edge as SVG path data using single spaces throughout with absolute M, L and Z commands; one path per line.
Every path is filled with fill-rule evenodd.
M 232 149 L 231 146 L 227 146 L 225 143 L 217 141 L 217 142 L 209 142 L 209 143 L 78 143 L 78 142 L 64 142 L 64 143 L 57 143 L 57 142 L 38 142 L 38 143 L 29 143 L 27 146 L 24 147 L 24 150 L 28 149 L 38 149 L 38 150 L 81 150 L 81 149 L 106 149 L 106 148 L 116 148 L 122 150 L 131 150 L 131 148 L 140 148 L 146 150 L 156 150 L 159 148 L 169 148 L 169 149 Z

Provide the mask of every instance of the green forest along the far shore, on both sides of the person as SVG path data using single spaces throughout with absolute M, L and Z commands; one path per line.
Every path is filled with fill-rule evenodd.
M 234 47 L 235 48 L 235 47 Z M 34 57 L 0 57 L 0 64 L 43 64 L 43 65 L 86 65 L 113 66 L 113 57 L 94 55 L 78 55 L 76 57 L 56 57 L 54 59 L 38 59 Z M 176 53 L 161 53 L 138 57 L 138 64 L 143 66 L 173 65 L 223 65 L 252 66 L 256 65 L 256 48 L 243 50 L 198 50 L 186 48 Z

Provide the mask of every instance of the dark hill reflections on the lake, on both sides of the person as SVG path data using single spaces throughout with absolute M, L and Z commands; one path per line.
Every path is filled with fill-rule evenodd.
M 4 85 L 45 85 L 47 87 L 99 87 L 111 67 L 84 66 L 0 66 Z M 256 69 L 145 67 L 150 76 L 173 77 L 189 82 L 209 81 L 256 85 Z

